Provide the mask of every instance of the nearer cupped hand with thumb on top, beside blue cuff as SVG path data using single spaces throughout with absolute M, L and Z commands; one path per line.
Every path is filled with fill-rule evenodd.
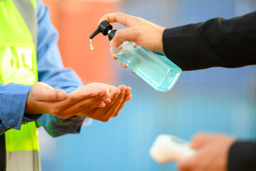
M 48 113 L 59 118 L 69 118 L 81 110 L 104 108 L 110 103 L 110 87 L 92 83 L 67 95 L 64 90 L 54 89 L 46 83 L 35 83 L 28 93 L 25 112 Z

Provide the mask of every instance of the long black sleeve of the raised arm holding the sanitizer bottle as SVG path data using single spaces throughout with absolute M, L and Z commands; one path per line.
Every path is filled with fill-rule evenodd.
M 256 64 L 256 11 L 166 28 L 164 53 L 183 71 Z

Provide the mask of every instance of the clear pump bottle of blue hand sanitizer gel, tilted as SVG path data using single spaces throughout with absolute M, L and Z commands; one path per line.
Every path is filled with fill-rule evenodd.
M 91 39 L 98 33 L 102 33 L 104 36 L 108 35 L 111 41 L 116 31 L 112 30 L 112 25 L 107 21 L 102 21 L 90 36 L 91 49 L 93 49 Z M 110 53 L 159 91 L 171 90 L 181 75 L 181 68 L 171 62 L 169 58 L 149 51 L 133 41 L 124 41 L 120 46 L 111 47 Z

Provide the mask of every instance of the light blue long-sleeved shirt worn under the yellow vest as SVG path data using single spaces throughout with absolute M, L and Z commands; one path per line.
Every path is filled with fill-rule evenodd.
M 58 33 L 50 23 L 49 11 L 41 0 L 37 0 L 38 44 L 37 64 L 38 81 L 53 88 L 63 89 L 67 93 L 82 86 L 80 78 L 69 68 L 63 68 L 58 50 Z M 80 133 L 82 123 L 90 125 L 90 118 L 57 118 L 53 115 L 24 115 L 26 98 L 31 86 L 0 83 L 0 135 L 9 129 L 21 128 L 21 124 L 35 121 L 43 126 L 53 137 L 67 133 Z

